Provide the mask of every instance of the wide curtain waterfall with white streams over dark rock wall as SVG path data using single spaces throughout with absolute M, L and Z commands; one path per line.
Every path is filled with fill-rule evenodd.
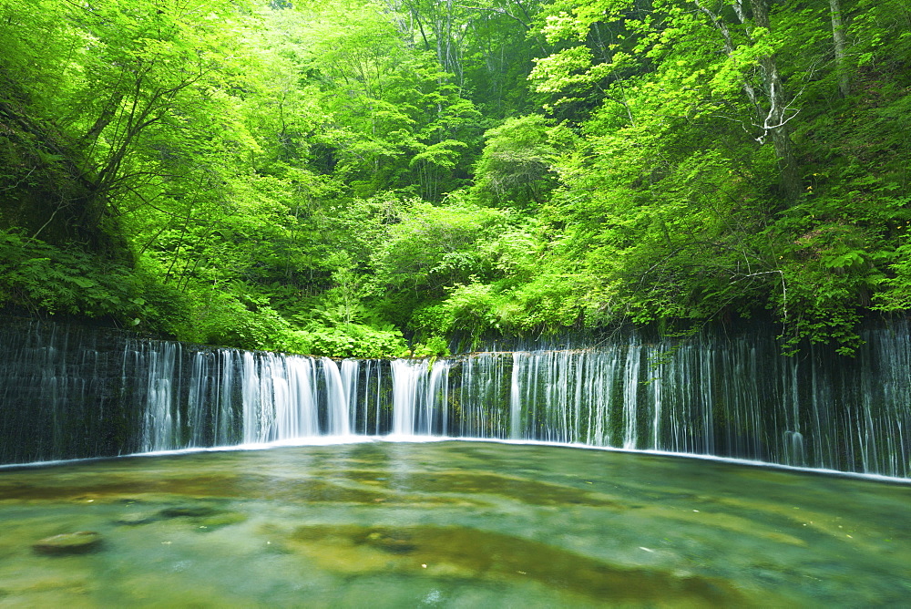
M 855 358 L 760 332 L 341 362 L 0 327 L 0 462 L 322 436 L 542 440 L 911 477 L 911 327 Z

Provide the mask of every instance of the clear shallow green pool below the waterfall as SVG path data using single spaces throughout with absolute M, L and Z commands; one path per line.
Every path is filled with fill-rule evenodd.
M 909 516 L 907 485 L 543 446 L 78 462 L 0 471 L 0 606 L 897 607 Z

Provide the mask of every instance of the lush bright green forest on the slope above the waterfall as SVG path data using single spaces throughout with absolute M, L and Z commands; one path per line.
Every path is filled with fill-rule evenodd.
M 911 309 L 909 0 L 0 0 L 0 304 L 197 343 Z

